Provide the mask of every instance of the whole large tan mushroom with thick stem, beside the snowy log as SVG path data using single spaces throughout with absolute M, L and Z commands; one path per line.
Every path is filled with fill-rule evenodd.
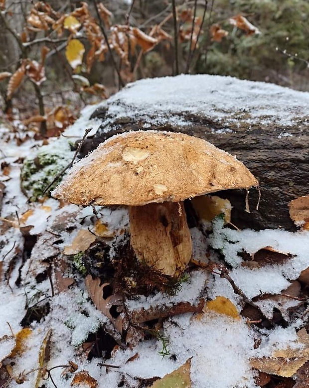
M 258 181 L 235 157 L 183 133 L 113 136 L 76 163 L 53 191 L 79 205 L 127 205 L 131 246 L 140 261 L 178 276 L 192 254 L 183 200 Z

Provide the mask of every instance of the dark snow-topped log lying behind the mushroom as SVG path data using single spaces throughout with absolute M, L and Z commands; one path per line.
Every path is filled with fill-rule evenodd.
M 94 111 L 101 120 L 81 156 L 108 137 L 139 129 L 184 132 L 205 139 L 241 160 L 260 183 L 246 193 L 216 193 L 233 206 L 239 228 L 296 230 L 288 203 L 309 194 L 309 93 L 264 82 L 211 75 L 137 81 Z

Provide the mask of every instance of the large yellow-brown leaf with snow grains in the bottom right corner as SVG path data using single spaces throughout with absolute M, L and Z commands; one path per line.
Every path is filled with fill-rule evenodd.
M 309 361 L 309 335 L 306 329 L 301 329 L 297 336 L 296 347 L 275 351 L 272 358 L 251 359 L 251 366 L 270 375 L 292 377 Z

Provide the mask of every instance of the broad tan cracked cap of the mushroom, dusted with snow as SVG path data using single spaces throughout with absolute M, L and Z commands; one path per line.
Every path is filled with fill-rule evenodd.
M 163 131 L 113 136 L 76 163 L 53 197 L 89 204 L 141 206 L 258 186 L 251 172 L 213 144 Z

